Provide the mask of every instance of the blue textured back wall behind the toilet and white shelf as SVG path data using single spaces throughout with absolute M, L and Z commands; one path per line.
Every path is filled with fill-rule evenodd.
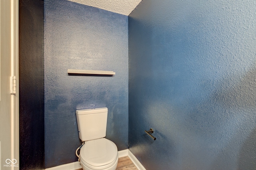
M 77 161 L 76 109 L 108 107 L 106 138 L 128 148 L 128 16 L 66 0 L 45 0 L 46 168 Z M 113 77 L 68 76 L 68 69 Z

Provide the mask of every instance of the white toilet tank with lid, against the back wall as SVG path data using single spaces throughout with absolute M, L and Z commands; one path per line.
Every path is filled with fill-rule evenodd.
M 90 141 L 106 137 L 108 108 L 76 110 L 79 138 Z

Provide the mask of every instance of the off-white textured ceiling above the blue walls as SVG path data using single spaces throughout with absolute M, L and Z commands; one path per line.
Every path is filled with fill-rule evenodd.
M 141 0 L 70 0 L 128 16 Z

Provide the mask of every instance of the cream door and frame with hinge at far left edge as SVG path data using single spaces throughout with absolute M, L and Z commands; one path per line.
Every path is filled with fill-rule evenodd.
M 0 0 L 0 45 L 4 47 L 0 49 L 0 169 L 4 170 L 19 170 L 18 4 L 18 0 Z

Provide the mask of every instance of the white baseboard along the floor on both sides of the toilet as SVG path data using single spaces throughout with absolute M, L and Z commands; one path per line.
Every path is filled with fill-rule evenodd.
M 118 156 L 119 156 L 119 158 L 128 156 L 138 170 L 146 170 L 129 149 L 118 151 Z M 69 164 L 55 166 L 52 168 L 46 168 L 45 170 L 77 170 L 80 168 L 82 168 L 82 166 L 80 165 L 80 162 L 77 161 L 77 162 L 72 162 Z

